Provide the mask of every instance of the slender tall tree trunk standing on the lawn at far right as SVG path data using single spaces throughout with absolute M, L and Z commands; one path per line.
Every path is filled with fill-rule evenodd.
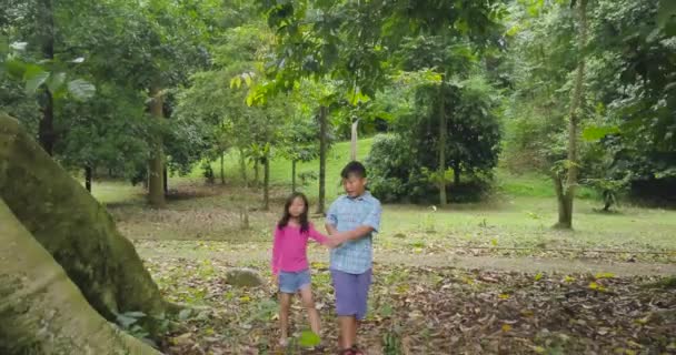
M 577 175 L 579 173 L 579 162 L 577 160 L 577 135 L 579 108 L 583 100 L 584 79 L 585 79 L 585 55 L 584 50 L 587 43 L 587 0 L 578 0 L 578 17 L 579 17 L 579 38 L 577 43 L 578 63 L 575 75 L 575 89 L 573 92 L 573 102 L 570 103 L 569 121 L 568 121 L 568 176 L 566 185 L 563 186 L 563 193 L 559 196 L 559 213 L 558 223 L 556 226 L 563 229 L 573 227 L 573 200 L 575 197 L 575 189 L 577 186 Z M 564 209 L 564 211 L 561 211 Z

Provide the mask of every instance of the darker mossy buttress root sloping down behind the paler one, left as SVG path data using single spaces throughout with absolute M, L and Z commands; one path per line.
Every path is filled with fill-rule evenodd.
M 133 245 L 118 232 L 106 209 L 16 120 L 2 115 L 0 197 L 100 315 L 115 321 L 117 313 L 159 316 L 167 310 Z M 157 332 L 148 321 L 149 331 Z

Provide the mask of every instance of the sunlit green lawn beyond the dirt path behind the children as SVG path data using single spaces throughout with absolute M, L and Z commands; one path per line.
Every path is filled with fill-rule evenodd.
M 359 158 L 364 159 L 371 139 L 359 142 Z M 327 158 L 327 203 L 341 193 L 339 172 L 349 160 L 349 143 L 335 144 Z M 299 164 L 298 173 L 318 171 L 318 161 Z M 218 174 L 218 163 L 213 163 Z M 222 240 L 230 242 L 269 241 L 270 226 L 279 217 L 281 203 L 290 189 L 291 164 L 281 158 L 271 163 L 272 205 L 269 212 L 252 211 L 251 229 L 240 229 L 242 206 L 258 207 L 261 192 L 238 186 L 237 155 L 226 161 L 228 184 L 206 185 L 196 169 L 188 179 L 171 178 L 171 189 L 180 196 L 165 210 L 146 207 L 141 186 L 118 182 L 98 182 L 93 195 L 109 205 L 119 221 L 122 233 L 132 239 L 152 240 Z M 252 175 L 249 172 L 250 176 Z M 382 247 L 410 250 L 446 250 L 457 246 L 516 247 L 585 247 L 622 250 L 676 250 L 676 212 L 623 206 L 617 214 L 595 211 L 600 202 L 577 199 L 575 232 L 555 231 L 556 197 L 551 182 L 537 174 L 513 175 L 498 169 L 498 197 L 483 203 L 451 204 L 447 210 L 431 206 L 385 206 Z M 302 187 L 312 200 L 317 182 Z M 588 189 L 579 189 L 578 196 L 594 197 Z M 321 224 L 321 220 L 316 220 Z

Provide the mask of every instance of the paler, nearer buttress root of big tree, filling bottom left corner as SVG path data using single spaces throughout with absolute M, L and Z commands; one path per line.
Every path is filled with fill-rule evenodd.
M 0 199 L 1 354 L 159 354 L 87 303 Z

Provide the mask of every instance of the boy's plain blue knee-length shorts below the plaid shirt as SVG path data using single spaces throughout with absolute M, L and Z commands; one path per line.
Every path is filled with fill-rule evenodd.
M 366 317 L 368 290 L 371 285 L 371 270 L 362 274 L 349 274 L 331 270 L 336 292 L 336 313 L 338 316 L 354 316 L 358 321 Z

